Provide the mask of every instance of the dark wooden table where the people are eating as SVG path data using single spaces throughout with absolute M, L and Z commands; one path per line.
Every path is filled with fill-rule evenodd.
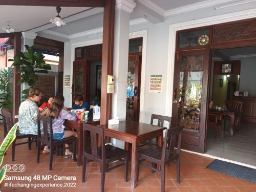
M 92 117 L 89 117 L 86 121 L 81 122 L 80 120 L 71 121 L 71 120 L 65 120 L 64 125 L 66 127 L 69 127 L 69 129 L 77 132 L 77 165 L 82 165 L 82 150 L 83 150 L 83 131 L 82 131 L 82 125 L 83 123 L 91 124 L 91 125 L 99 125 L 99 120 L 93 120 Z

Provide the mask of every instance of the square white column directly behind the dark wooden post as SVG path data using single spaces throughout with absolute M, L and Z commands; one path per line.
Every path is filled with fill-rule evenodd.
M 125 120 L 129 54 L 130 14 L 136 4 L 132 0 L 116 0 L 113 74 L 115 93 L 112 97 L 112 118 Z

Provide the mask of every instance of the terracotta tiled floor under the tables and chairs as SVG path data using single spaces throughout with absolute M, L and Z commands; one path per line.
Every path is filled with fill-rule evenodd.
M 3 126 L 0 124 L 0 141 L 3 140 Z M 75 176 L 75 181 L 68 181 L 75 183 L 76 187 L 55 187 L 55 188 L 19 188 L 8 189 L 2 186 L 2 191 L 99 191 L 100 174 L 96 163 L 90 163 L 87 166 L 87 182 L 81 182 L 82 167 L 78 167 L 72 159 L 65 159 L 63 157 L 54 156 L 53 170 L 49 171 L 49 156 L 41 155 L 40 163 L 36 163 L 36 147 L 33 145 L 32 150 L 29 151 L 27 145 L 19 145 L 16 148 L 15 161 L 11 161 L 11 150 L 8 150 L 7 156 L 4 157 L 4 163 L 23 163 L 26 170 L 23 173 L 8 173 L 8 176 L 32 176 L 32 182 L 35 183 L 62 183 L 67 181 L 51 180 L 33 180 L 42 175 L 56 175 L 56 176 Z M 244 180 L 236 179 L 230 176 L 212 172 L 205 167 L 212 161 L 212 159 L 190 154 L 186 152 L 181 153 L 181 182 L 176 183 L 176 168 L 175 164 L 166 166 L 166 182 L 165 191 L 256 191 L 256 183 L 250 183 Z M 119 167 L 106 174 L 105 191 L 160 191 L 160 175 L 152 174 L 151 170 L 145 167 L 140 167 L 139 183 L 135 189 L 130 188 L 130 182 L 124 182 L 124 167 Z M 3 182 L 3 185 L 6 181 Z M 13 182 L 15 183 L 15 182 Z M 29 183 L 26 181 L 19 181 L 19 183 Z

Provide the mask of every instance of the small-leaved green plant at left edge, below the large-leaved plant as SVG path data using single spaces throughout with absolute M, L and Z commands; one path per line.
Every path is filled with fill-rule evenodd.
M 4 102 L 0 103 L 0 108 L 12 108 L 12 102 L 11 102 L 11 90 L 10 90 L 10 78 L 12 76 L 12 70 L 11 69 L 4 69 L 0 71 L 0 90 L 2 93 L 0 94 L 0 98 L 4 99 Z

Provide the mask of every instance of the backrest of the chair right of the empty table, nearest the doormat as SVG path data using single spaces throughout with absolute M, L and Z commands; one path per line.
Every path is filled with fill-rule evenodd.
M 168 129 L 165 132 L 163 148 L 162 148 L 162 157 L 161 161 L 164 162 L 168 160 L 174 153 L 174 147 L 177 144 L 177 154 L 180 154 L 181 148 L 181 135 L 183 131 L 183 126 L 172 127 L 172 129 Z M 166 154 L 166 148 L 168 148 L 168 153 Z

